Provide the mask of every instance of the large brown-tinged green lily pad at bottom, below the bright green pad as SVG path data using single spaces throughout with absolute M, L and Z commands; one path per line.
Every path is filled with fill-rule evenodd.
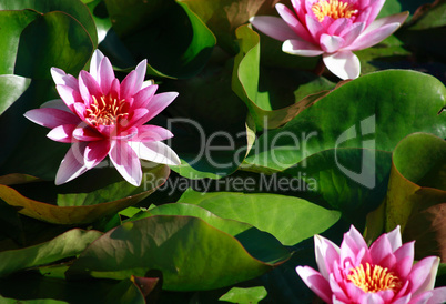
M 256 260 L 234 236 L 197 217 L 156 215 L 105 233 L 67 276 L 124 278 L 159 270 L 164 290 L 212 290 L 259 276 L 286 259 Z

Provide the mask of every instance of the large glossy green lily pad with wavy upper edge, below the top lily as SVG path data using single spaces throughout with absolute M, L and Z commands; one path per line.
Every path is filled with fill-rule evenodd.
M 445 85 L 428 74 L 387 70 L 334 90 L 283 128 L 264 132 L 245 159 L 251 171 L 290 168 L 327 149 L 393 151 L 407 134 L 446 136 Z

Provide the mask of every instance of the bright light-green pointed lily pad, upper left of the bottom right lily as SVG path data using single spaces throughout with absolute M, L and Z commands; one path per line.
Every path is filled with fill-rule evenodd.
M 294 245 L 322 233 L 341 217 L 337 211 L 277 194 L 187 191 L 179 202 L 197 204 L 220 217 L 249 223 L 271 233 L 284 245 Z

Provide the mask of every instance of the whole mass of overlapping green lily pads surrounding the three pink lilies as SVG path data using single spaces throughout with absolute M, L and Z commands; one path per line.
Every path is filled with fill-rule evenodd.
M 295 266 L 351 224 L 369 241 L 399 224 L 445 261 L 446 2 L 387 0 L 409 21 L 341 83 L 249 26 L 276 2 L 0 0 L 1 302 L 307 303 Z M 23 118 L 58 98 L 51 67 L 77 75 L 97 48 L 180 92 L 156 123 L 182 165 L 145 163 L 140 188 L 107 163 L 55 186 L 69 146 Z

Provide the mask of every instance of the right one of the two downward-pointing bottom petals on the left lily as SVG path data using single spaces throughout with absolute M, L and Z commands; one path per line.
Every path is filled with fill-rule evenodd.
M 132 185 L 139 186 L 141 184 L 141 162 L 125 141 L 114 141 L 109 156 L 122 178 Z

